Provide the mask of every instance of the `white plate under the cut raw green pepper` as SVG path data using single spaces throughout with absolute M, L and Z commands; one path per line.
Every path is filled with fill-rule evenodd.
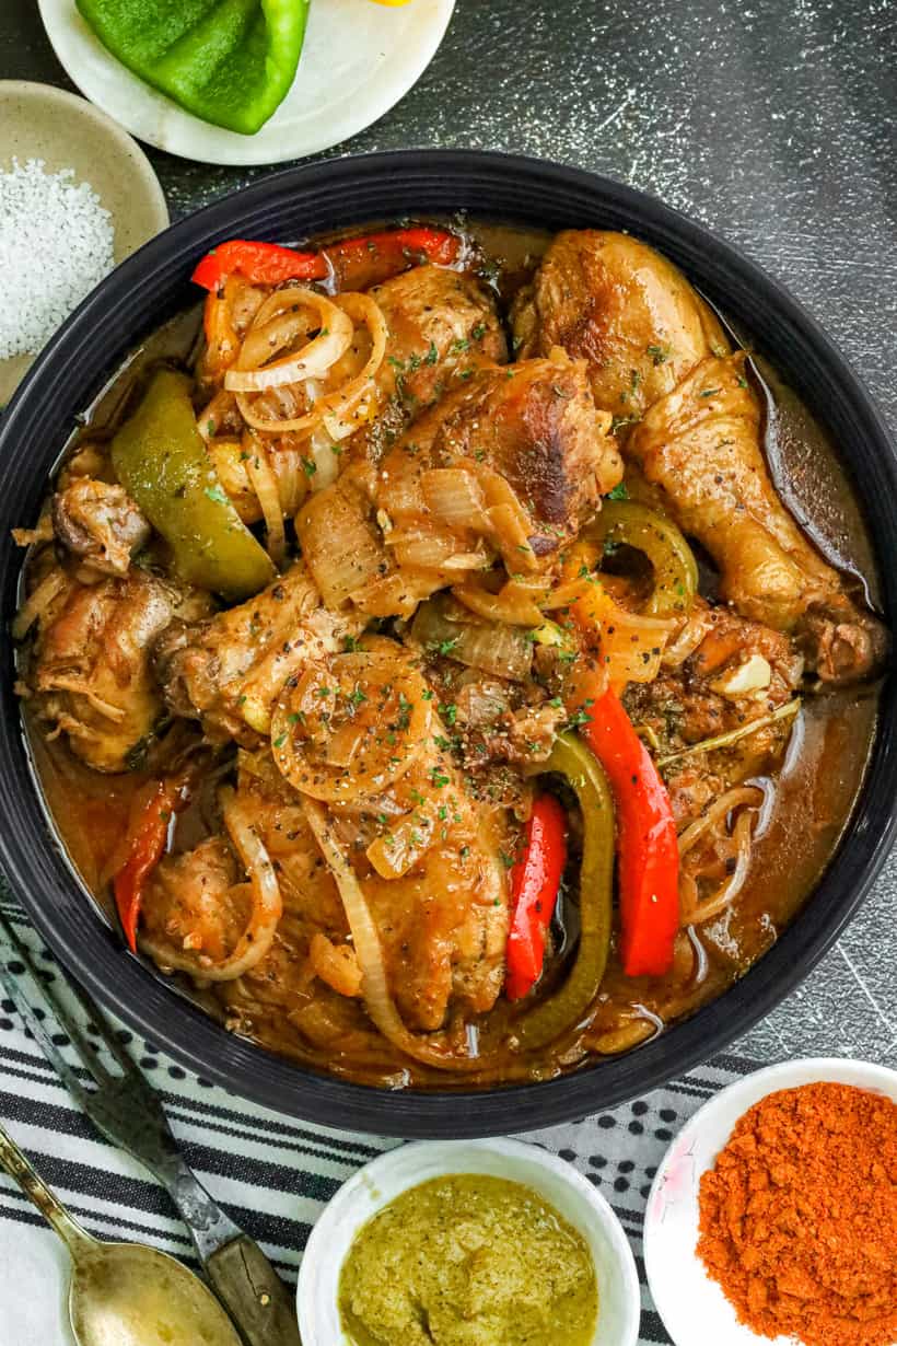
M 133 75 L 94 38 L 75 0 L 39 0 L 54 51 L 82 93 L 133 136 L 183 159 L 273 164 L 355 136 L 417 83 L 452 17 L 455 0 L 312 0 L 293 87 L 254 136 L 183 112 Z

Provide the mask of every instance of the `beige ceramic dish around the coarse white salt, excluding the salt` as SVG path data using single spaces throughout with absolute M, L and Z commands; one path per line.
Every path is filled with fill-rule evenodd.
M 140 145 L 85 98 L 52 85 L 0 79 L 0 168 L 43 159 L 47 172 L 74 168 L 112 215 L 114 258 L 124 261 L 168 225 L 168 206 Z M 0 408 L 34 355 L 0 359 Z

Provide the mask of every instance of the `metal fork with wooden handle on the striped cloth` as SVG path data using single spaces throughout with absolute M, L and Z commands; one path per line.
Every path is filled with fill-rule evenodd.
M 28 950 L 3 913 L 0 913 L 0 931 L 15 957 L 31 970 L 35 985 L 40 987 Z M 139 1159 L 163 1184 L 190 1230 L 208 1280 L 239 1327 L 246 1346 L 301 1346 L 296 1310 L 282 1280 L 258 1244 L 225 1214 L 187 1166 L 156 1093 L 124 1051 L 90 996 L 77 983 L 67 983 L 117 1062 L 121 1074 L 113 1074 L 106 1069 L 78 1024 L 50 991 L 40 987 L 40 995 L 48 1010 L 65 1030 L 73 1050 L 93 1079 L 95 1085 L 93 1089 L 85 1088 L 65 1059 L 50 1031 L 35 1015 L 17 977 L 9 972 L 8 960 L 1 956 L 0 983 L 35 1042 L 91 1121 L 108 1140 Z

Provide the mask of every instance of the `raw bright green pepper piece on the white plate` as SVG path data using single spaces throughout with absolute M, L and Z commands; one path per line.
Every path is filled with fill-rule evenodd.
M 284 101 L 308 0 L 77 0 L 102 44 L 187 112 L 254 135 Z

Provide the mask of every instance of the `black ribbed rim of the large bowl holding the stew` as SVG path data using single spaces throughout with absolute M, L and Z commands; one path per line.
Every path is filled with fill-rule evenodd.
M 754 300 L 767 306 L 763 311 L 771 314 L 769 322 L 775 319 L 781 327 L 783 339 L 791 335 L 802 357 L 812 361 L 814 377 L 830 396 L 839 392 L 849 406 L 855 444 L 853 455 L 845 456 L 861 460 L 866 475 L 873 478 L 874 490 L 867 487 L 859 493 L 859 501 L 867 513 L 870 532 L 878 534 L 875 555 L 894 625 L 897 576 L 892 579 L 889 568 L 882 564 L 882 536 L 889 548 L 897 549 L 897 520 L 885 509 L 885 502 L 897 495 L 897 450 L 862 381 L 815 319 L 779 281 L 737 248 L 646 192 L 585 170 L 492 151 L 389 151 L 281 170 L 188 215 L 145 244 L 75 310 L 9 404 L 0 425 L 0 509 L 9 507 L 8 497 L 15 491 L 15 472 L 4 450 L 11 450 L 16 441 L 27 443 L 28 435 L 36 432 L 43 394 L 77 367 L 85 345 L 90 343 L 97 330 L 102 330 L 104 323 L 120 315 L 128 302 L 134 302 L 134 293 L 152 299 L 173 271 L 183 275 L 186 283 L 190 261 L 215 242 L 233 237 L 235 229 L 254 230 L 256 237 L 270 237 L 272 227 L 266 229 L 265 219 L 278 209 L 286 209 L 286 201 L 303 191 L 319 191 L 324 201 L 321 209 L 325 209 L 327 192 L 351 190 L 352 199 L 359 205 L 347 209 L 342 218 L 344 223 L 352 223 L 374 218 L 360 207 L 371 192 L 383 197 L 398 183 L 413 201 L 416 191 L 425 192 L 428 184 L 434 182 L 440 187 L 451 183 L 453 190 L 468 192 L 475 201 L 480 199 L 476 192 L 488 191 L 490 184 L 499 183 L 506 197 L 516 197 L 523 184 L 534 194 L 527 198 L 530 218 L 535 213 L 533 201 L 538 199 L 539 218 L 545 210 L 546 223 L 554 209 L 551 202 L 561 197 L 565 209 L 576 205 L 577 211 L 582 210 L 584 222 L 593 219 L 596 213 L 631 218 L 636 232 L 670 253 L 693 277 L 706 285 L 707 275 L 713 273 L 717 288 L 724 281 L 732 287 L 726 292 L 733 296 L 736 318 L 741 307 Z M 428 214 L 426 209 L 418 210 Z M 491 218 L 496 217 L 496 210 Z M 490 218 L 488 209 L 471 206 L 468 214 Z M 516 218 L 522 222 L 524 214 L 520 209 Z M 397 210 L 393 218 L 398 215 Z M 503 218 L 512 217 L 514 210 L 504 210 Z M 249 237 L 253 234 L 249 233 Z M 136 334 L 118 347 L 120 354 L 134 343 Z M 9 604 L 11 575 L 15 569 L 17 576 L 19 565 L 13 565 L 9 557 L 5 537 L 0 538 L 0 567 L 5 565 L 5 602 Z M 11 669 L 9 650 L 4 657 Z M 30 763 L 23 754 L 17 711 L 12 705 L 12 680 L 4 681 L 8 685 L 4 685 L 7 713 L 0 719 L 0 813 L 15 818 L 19 825 L 0 829 L 0 863 L 13 892 L 54 953 L 101 1004 L 200 1077 L 295 1117 L 329 1125 L 343 1125 L 351 1119 L 354 1129 L 371 1133 L 432 1137 L 448 1131 L 456 1137 L 472 1137 L 535 1129 L 613 1106 L 691 1069 L 757 1023 L 816 965 L 867 895 L 897 832 L 897 697 L 894 680 L 890 678 L 882 690 L 866 777 L 832 860 L 777 942 L 721 997 L 624 1057 L 590 1063 L 555 1079 L 480 1092 L 390 1092 L 342 1081 L 277 1057 L 247 1039 L 235 1038 L 186 997 L 172 993 L 171 985 L 164 988 L 164 1003 L 156 1005 L 159 996 L 153 992 L 153 983 L 159 983 L 159 976 L 124 952 L 95 909 L 91 909 L 89 938 L 74 929 L 69 929 L 65 937 L 59 935 L 54 921 L 54 896 L 61 884 L 70 890 L 77 880 L 71 878 L 55 839 L 47 836 L 46 822 L 39 818 L 39 798 L 35 795 L 26 801 L 16 789 L 16 774 L 22 779 L 30 773 Z M 34 891 L 35 883 L 39 892 Z M 81 900 L 82 894 L 81 888 Z M 807 913 L 814 906 L 815 919 L 808 921 Z M 89 918 L 78 913 L 77 919 Z

